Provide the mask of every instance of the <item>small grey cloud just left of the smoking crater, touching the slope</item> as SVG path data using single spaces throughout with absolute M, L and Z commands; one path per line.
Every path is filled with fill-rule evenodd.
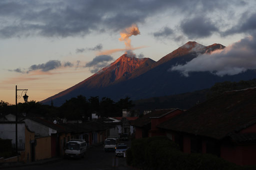
M 101 68 L 107 66 L 108 62 L 112 60 L 113 60 L 113 57 L 109 55 L 99 55 L 93 58 L 92 61 L 86 63 L 85 67 L 92 67 L 92 69 L 90 69 L 90 72 L 95 73 Z

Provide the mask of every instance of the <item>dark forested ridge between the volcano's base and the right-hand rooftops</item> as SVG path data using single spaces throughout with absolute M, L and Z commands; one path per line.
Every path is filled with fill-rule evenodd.
M 168 108 L 180 108 L 186 110 L 204 102 L 206 99 L 221 95 L 224 92 L 255 87 L 256 79 L 247 81 L 241 80 L 239 82 L 224 81 L 216 83 L 208 89 L 197 90 L 194 92 L 135 100 L 133 101 L 133 104 L 135 105 L 133 109 L 139 110 L 140 112 L 144 110 Z

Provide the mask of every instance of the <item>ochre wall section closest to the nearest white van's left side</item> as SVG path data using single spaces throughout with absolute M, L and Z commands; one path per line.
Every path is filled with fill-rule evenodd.
M 35 160 L 51 158 L 51 137 L 36 138 Z

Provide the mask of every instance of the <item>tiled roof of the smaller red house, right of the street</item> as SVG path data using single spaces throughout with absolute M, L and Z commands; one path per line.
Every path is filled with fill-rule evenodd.
M 160 118 L 173 112 L 176 109 L 160 109 L 160 110 L 153 110 L 152 112 L 143 115 L 141 118 L 138 118 L 134 121 L 131 121 L 131 125 L 135 127 L 143 127 L 151 122 L 151 118 Z

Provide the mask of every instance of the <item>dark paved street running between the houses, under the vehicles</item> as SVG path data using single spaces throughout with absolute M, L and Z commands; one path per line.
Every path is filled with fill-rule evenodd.
M 129 146 L 130 142 L 126 143 Z M 113 152 L 105 153 L 101 145 L 89 148 L 85 157 L 79 160 L 61 159 L 40 165 L 9 167 L 8 170 L 132 170 L 132 168 L 126 165 L 125 158 L 115 158 Z

